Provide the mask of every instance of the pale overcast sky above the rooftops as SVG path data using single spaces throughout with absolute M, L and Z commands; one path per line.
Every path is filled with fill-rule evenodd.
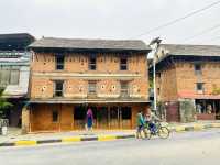
M 220 3 L 170 26 L 140 35 L 216 1 L 0 0 L 0 34 L 146 43 L 160 36 L 166 44 L 220 45 Z

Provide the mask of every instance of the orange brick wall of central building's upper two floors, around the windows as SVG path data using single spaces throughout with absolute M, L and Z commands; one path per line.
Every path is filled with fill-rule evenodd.
M 64 70 L 55 70 L 54 55 L 52 53 L 34 54 L 31 64 L 31 98 L 52 98 L 54 79 L 65 80 L 64 97 L 67 98 L 86 97 L 88 80 L 92 79 L 97 80 L 98 96 L 118 97 L 120 94 L 119 79 L 122 78 L 129 80 L 132 97 L 148 98 L 148 75 L 145 54 L 130 55 L 128 70 L 120 70 L 120 55 L 116 54 L 98 54 L 96 70 L 88 69 L 88 54 L 67 54 L 65 56 Z M 84 74 L 86 75 L 84 76 Z M 100 74 L 102 75 L 100 76 Z

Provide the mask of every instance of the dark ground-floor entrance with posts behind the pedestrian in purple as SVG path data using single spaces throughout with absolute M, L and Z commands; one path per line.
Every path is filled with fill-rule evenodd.
M 132 108 L 131 107 L 75 107 L 74 128 L 85 129 L 86 113 L 91 108 L 94 113 L 94 129 L 131 129 Z

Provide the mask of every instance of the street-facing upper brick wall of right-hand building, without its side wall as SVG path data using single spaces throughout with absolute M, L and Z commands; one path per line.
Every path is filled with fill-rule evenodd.
M 212 94 L 215 85 L 220 88 L 220 63 L 205 62 L 201 66 L 201 75 L 196 75 L 193 63 L 178 63 L 176 65 L 178 92 L 197 94 L 196 82 L 204 82 L 205 95 Z

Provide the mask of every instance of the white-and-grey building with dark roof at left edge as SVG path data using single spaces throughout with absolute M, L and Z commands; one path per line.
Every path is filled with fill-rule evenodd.
M 31 53 L 26 46 L 34 37 L 26 33 L 0 34 L 0 88 L 13 107 L 6 111 L 11 127 L 21 125 L 21 110 L 25 105 Z

